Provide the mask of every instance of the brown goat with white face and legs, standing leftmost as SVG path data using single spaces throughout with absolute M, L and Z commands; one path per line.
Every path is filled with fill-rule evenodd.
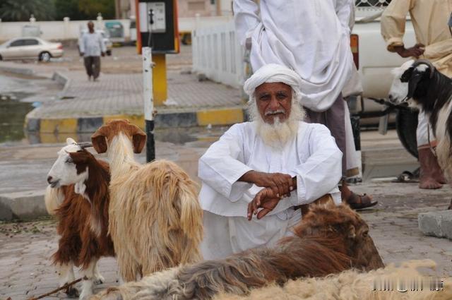
M 61 236 L 52 257 L 59 268 L 60 287 L 74 280 L 74 265 L 81 267 L 80 299 L 88 299 L 93 294 L 93 281 L 103 281 L 97 260 L 114 256 L 108 234 L 109 166 L 73 139 L 66 142 L 47 177 L 51 188 L 58 189 L 46 193 L 46 205 L 59 220 L 57 232 Z M 64 200 L 59 204 L 61 196 Z M 76 296 L 78 291 L 69 288 L 66 294 Z

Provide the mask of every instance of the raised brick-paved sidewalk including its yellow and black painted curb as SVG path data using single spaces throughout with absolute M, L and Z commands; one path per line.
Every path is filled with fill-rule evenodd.
M 49 76 L 50 66 L 2 63 L 0 71 Z M 64 87 L 59 100 L 42 103 L 30 112 L 25 127 L 35 133 L 93 132 L 110 119 L 126 118 L 144 127 L 143 76 L 141 73 L 102 73 L 97 82 L 83 71 L 59 68 L 52 74 Z M 155 126 L 190 127 L 242 122 L 244 101 L 239 90 L 196 75 L 167 71 L 168 100 L 155 107 Z

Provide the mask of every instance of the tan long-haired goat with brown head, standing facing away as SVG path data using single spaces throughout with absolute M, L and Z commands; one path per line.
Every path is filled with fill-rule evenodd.
M 109 157 L 109 232 L 122 278 L 201 260 L 203 211 L 195 182 L 167 160 L 138 164 L 133 152 L 143 150 L 146 136 L 129 121 L 109 121 L 91 140 Z

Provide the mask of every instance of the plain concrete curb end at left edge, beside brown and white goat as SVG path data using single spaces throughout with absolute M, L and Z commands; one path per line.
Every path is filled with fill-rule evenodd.
M 49 215 L 44 190 L 4 193 L 0 195 L 0 220 L 33 220 Z

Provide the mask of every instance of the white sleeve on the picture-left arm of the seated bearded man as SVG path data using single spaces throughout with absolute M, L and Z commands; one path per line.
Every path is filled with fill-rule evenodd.
M 198 177 L 204 184 L 235 202 L 252 186 L 238 181 L 251 171 L 243 161 L 243 137 L 238 126 L 232 126 L 199 159 Z

